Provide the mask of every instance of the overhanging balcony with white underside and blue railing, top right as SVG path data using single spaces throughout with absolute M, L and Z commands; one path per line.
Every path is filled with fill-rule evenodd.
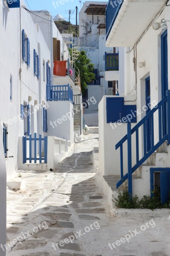
M 109 0 L 106 46 L 133 47 L 165 3 L 166 0 Z

